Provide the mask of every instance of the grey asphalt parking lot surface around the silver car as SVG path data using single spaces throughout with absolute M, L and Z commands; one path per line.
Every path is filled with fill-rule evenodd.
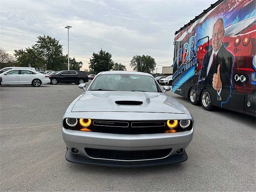
M 83 92 L 75 84 L 0 86 L 0 191 L 256 191 L 255 118 L 208 112 L 172 92 L 195 122 L 186 162 L 144 168 L 67 162 L 61 118 Z

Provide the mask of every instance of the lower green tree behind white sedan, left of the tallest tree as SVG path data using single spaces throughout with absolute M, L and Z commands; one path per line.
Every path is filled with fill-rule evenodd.
M 34 45 L 25 50 L 14 50 L 14 56 L 16 58 L 17 66 L 46 69 L 44 59 L 42 58 L 42 52 Z

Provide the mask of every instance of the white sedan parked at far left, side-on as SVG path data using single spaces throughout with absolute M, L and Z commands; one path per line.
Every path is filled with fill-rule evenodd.
M 12 69 L 2 74 L 2 85 L 32 85 L 39 87 L 41 84 L 50 83 L 48 75 L 29 69 Z

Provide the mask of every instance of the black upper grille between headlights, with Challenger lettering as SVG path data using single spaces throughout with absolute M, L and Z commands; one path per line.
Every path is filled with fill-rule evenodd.
M 92 132 L 112 134 L 154 134 L 169 130 L 164 121 L 108 121 L 94 120 Z

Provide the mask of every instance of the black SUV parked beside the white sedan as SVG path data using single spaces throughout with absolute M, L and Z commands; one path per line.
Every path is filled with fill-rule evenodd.
M 88 82 L 88 75 L 85 71 L 64 70 L 50 76 L 51 84 L 57 83 L 85 83 Z

